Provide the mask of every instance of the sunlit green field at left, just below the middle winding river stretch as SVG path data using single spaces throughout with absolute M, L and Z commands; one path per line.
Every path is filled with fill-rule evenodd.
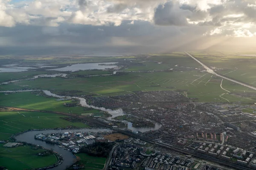
M 37 94 L 32 94 L 31 92 L 20 92 L 5 95 L 0 93 L 0 105 L 16 107 L 16 108 L 26 108 L 32 110 L 41 111 L 55 111 L 63 113 L 99 113 L 96 109 L 86 110 L 86 108 L 81 106 L 67 107 L 64 103 L 73 103 L 72 100 L 59 101 L 53 97 L 45 97 Z

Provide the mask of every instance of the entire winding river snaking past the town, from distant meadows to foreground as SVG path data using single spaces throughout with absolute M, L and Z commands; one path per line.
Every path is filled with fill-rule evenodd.
M 113 74 L 116 74 L 116 72 L 114 72 Z M 61 77 L 66 77 L 66 74 L 52 74 L 52 75 L 39 75 L 39 76 L 35 76 L 32 79 L 36 79 L 38 77 L 56 77 L 56 76 L 61 76 Z M 15 80 L 15 81 L 11 81 L 11 82 L 16 82 L 16 81 L 20 81 L 20 80 Z M 2 84 L 8 84 L 10 82 L 4 82 Z M 29 91 L 41 91 L 41 90 L 24 90 L 24 91 L 0 91 L 0 93 L 15 93 L 15 92 L 29 92 Z M 59 96 L 57 94 L 53 94 L 50 91 L 43 91 L 44 94 L 48 95 L 48 96 L 52 96 L 52 97 L 56 97 L 56 98 L 73 98 L 73 99 L 78 99 L 79 103 L 81 106 L 83 107 L 87 107 L 87 108 L 94 108 L 94 109 L 98 109 L 100 111 L 106 111 L 108 113 L 110 113 L 112 115 L 112 117 L 109 117 L 108 119 L 112 119 L 116 116 L 122 116 L 125 113 L 122 111 L 122 109 L 118 109 L 118 110 L 111 110 L 111 109 L 106 109 L 106 108 L 100 108 L 100 107 L 96 107 L 93 105 L 88 105 L 86 102 L 86 99 L 81 98 L 81 97 L 71 97 L 71 96 Z M 151 120 L 150 120 L 151 121 Z M 132 131 L 140 131 L 140 132 L 147 132 L 149 130 L 157 130 L 160 127 L 162 127 L 161 124 L 154 122 L 155 123 L 155 127 L 132 127 L 132 123 L 128 122 L 128 129 L 132 130 Z M 125 128 L 121 128 L 121 129 L 125 129 Z M 81 132 L 99 132 L 99 131 L 105 131 L 108 129 L 77 129 L 77 130 L 38 130 L 38 131 L 28 131 L 25 133 L 22 133 L 18 136 L 15 136 L 15 139 L 17 139 L 17 141 L 22 141 L 22 142 L 27 142 L 27 143 L 31 143 L 31 144 L 36 144 L 36 145 L 40 145 L 46 149 L 53 149 L 53 151 L 60 153 L 63 158 L 64 161 L 62 162 L 62 164 L 60 164 L 57 167 L 52 168 L 52 170 L 64 170 L 67 167 L 70 167 L 73 163 L 74 163 L 74 159 L 76 159 L 76 157 L 69 151 L 64 150 L 61 147 L 58 147 L 58 145 L 56 144 L 47 144 L 46 142 L 40 141 L 40 140 L 36 140 L 34 139 L 34 136 L 38 133 L 44 133 L 44 134 L 48 134 L 48 133 L 59 133 L 59 132 L 64 132 L 64 131 L 81 131 Z M 111 130 L 108 130 L 111 131 Z

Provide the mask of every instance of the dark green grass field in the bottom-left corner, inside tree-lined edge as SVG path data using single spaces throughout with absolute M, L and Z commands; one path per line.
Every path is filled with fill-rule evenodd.
M 30 146 L 20 146 L 14 148 L 1 147 L 0 162 L 1 166 L 9 170 L 28 170 L 39 167 L 46 167 L 54 164 L 57 158 L 52 154 L 49 156 L 37 156 L 45 150 L 32 149 Z

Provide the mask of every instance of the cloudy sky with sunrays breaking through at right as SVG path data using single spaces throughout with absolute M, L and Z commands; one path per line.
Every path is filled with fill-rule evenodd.
M 0 0 L 0 52 L 251 50 L 256 0 Z

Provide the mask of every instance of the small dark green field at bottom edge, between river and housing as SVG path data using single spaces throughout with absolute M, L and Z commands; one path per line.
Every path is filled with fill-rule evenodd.
M 79 163 L 84 164 L 84 169 L 82 170 L 88 170 L 90 168 L 102 170 L 105 166 L 106 158 L 93 157 L 86 153 L 77 153 L 76 156 L 80 158 Z

